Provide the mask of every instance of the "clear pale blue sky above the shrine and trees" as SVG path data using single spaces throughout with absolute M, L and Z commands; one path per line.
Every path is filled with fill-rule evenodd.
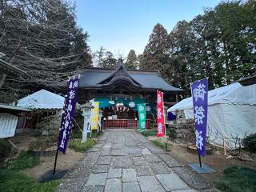
M 74 0 L 77 22 L 90 35 L 91 50 L 101 46 L 126 56 L 129 50 L 142 54 L 154 25 L 168 33 L 178 21 L 190 21 L 219 0 Z

